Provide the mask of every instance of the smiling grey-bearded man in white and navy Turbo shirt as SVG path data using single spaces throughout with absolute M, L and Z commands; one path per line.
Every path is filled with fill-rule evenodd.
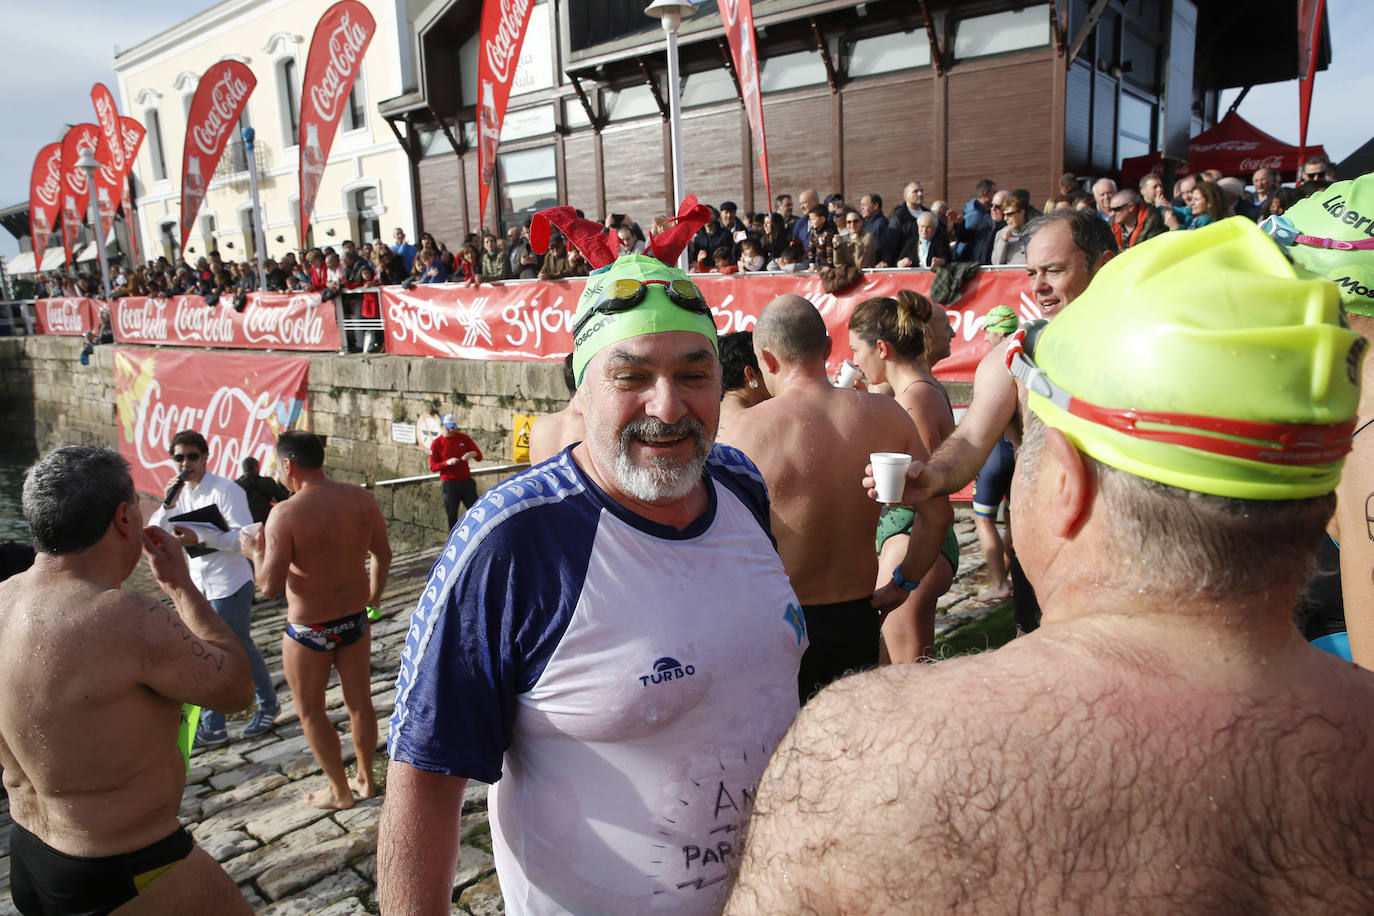
M 797 711 L 805 619 L 758 470 L 713 446 L 699 290 L 622 255 L 588 277 L 572 336 L 585 438 L 477 501 L 412 617 L 383 912 L 448 912 L 469 779 L 495 783 L 507 912 L 719 912 Z

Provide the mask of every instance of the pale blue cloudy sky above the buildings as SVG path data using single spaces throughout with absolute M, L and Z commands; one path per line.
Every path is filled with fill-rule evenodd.
M 110 62 L 115 48 L 129 48 L 213 5 L 210 0 L 38 0 L 5 4 L 7 93 L 0 130 L 0 206 L 29 195 L 33 157 L 59 139 L 65 124 L 93 119 L 91 87 L 106 82 L 118 99 Z M 1366 47 L 1374 37 L 1369 0 L 1327 0 L 1331 19 L 1331 67 L 1316 77 L 1308 140 L 1326 146 L 1337 162 L 1374 133 L 1367 115 L 1374 98 L 1374 70 Z M 1264 54 L 1263 47 L 1254 48 Z M 1235 91 L 1223 93 L 1226 110 Z M 1241 114 L 1281 140 L 1297 143 L 1297 84 L 1256 87 Z M 128 113 L 124 113 L 128 114 Z M 172 137 L 166 139 L 173 143 Z M 0 254 L 18 242 L 0 231 Z

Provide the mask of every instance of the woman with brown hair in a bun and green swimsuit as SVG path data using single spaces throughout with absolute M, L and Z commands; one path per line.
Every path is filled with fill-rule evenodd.
M 915 422 L 932 455 L 954 433 L 949 396 L 930 372 L 930 367 L 949 356 L 952 336 L 945 310 L 911 290 L 901 290 L 894 299 L 860 302 L 849 316 L 855 363 L 870 385 L 892 386 L 893 397 Z M 901 563 L 914 518 L 904 507 L 883 508 L 877 537 L 879 585 L 892 581 L 892 570 Z M 893 663 L 934 654 L 936 602 L 949 591 L 959 569 L 959 541 L 952 526 L 940 553 L 944 559 L 936 559 L 921 577 L 921 585 L 882 622 L 882 641 Z

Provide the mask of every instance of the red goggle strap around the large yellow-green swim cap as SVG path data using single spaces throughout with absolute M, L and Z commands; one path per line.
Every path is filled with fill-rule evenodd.
M 1330 426 L 1267 423 L 1232 417 L 1109 408 L 1076 398 L 1035 364 L 1035 346 L 1048 321 L 1026 321 L 1007 345 L 1007 371 L 1057 408 L 1109 430 L 1153 442 L 1228 455 L 1265 464 L 1325 464 L 1351 450 L 1355 420 Z

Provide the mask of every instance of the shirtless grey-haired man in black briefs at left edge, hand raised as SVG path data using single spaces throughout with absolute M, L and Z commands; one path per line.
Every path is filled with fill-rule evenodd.
M 8 883 L 34 913 L 251 913 L 177 823 L 183 703 L 253 702 L 238 636 L 176 537 L 143 527 L 129 464 L 69 445 L 29 468 L 34 564 L 0 585 L 0 766 Z M 139 553 L 168 606 L 122 588 Z M 185 737 L 190 737 L 188 733 Z

